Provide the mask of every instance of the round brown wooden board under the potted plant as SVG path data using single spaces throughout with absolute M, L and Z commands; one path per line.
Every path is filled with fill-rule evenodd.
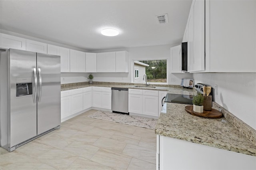
M 211 111 L 204 111 L 203 113 L 198 113 L 193 111 L 193 105 L 185 106 L 186 112 L 190 113 L 194 116 L 206 117 L 206 118 L 221 118 L 223 115 L 221 112 L 216 109 L 212 109 Z

